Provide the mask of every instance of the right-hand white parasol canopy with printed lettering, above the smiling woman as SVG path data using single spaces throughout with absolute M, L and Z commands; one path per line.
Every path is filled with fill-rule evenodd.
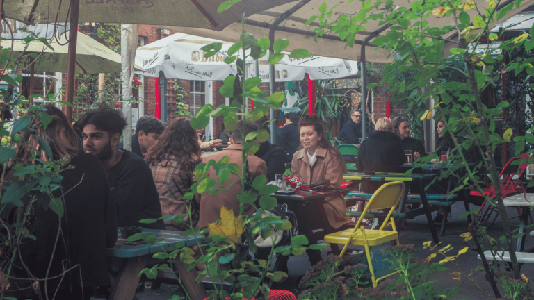
M 358 74 L 357 62 L 342 60 L 339 58 L 327 58 L 323 56 L 310 56 L 309 58 L 289 58 L 289 53 L 275 65 L 276 82 L 300 81 L 305 79 L 305 74 L 312 80 L 334 79 L 353 76 Z M 248 58 L 247 78 L 254 77 L 254 64 L 252 58 Z M 259 77 L 261 82 L 269 82 L 268 56 L 258 61 Z

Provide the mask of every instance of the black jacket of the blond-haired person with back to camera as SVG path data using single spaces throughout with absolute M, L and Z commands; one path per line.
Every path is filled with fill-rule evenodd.
M 389 131 L 373 131 L 359 147 L 359 171 L 396 172 L 405 163 L 401 137 Z

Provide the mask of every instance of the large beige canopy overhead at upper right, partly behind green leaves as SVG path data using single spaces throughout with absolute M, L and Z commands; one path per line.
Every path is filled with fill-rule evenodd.
M 293 1 L 292 3 L 285 4 L 283 6 L 277 6 L 270 8 L 266 11 L 258 12 L 250 17 L 245 19 L 245 30 L 254 34 L 256 38 L 268 37 L 270 24 L 273 24 L 275 19 L 280 17 L 284 12 L 289 10 L 299 1 Z M 340 1 L 340 0 L 310 0 L 305 3 L 302 8 L 293 12 L 291 16 L 287 17 L 282 24 L 277 26 L 275 31 L 275 38 L 289 39 L 291 44 L 286 49 L 286 51 L 291 51 L 295 48 L 305 48 L 316 56 L 328 56 L 333 58 L 343 58 L 348 60 L 357 60 L 357 61 L 367 61 L 370 63 L 386 63 L 388 60 L 392 60 L 394 56 L 389 56 L 389 51 L 383 49 L 375 49 L 373 46 L 367 46 L 367 42 L 370 42 L 375 37 L 375 34 L 385 35 L 387 27 L 380 25 L 379 20 L 368 19 L 368 23 L 364 24 L 365 31 L 359 31 L 356 34 L 356 42 L 353 48 L 345 47 L 346 42 L 342 42 L 337 33 L 327 33 L 322 37 L 317 37 L 317 42 L 314 41 L 315 31 L 314 29 L 318 28 L 318 22 L 312 22 L 308 26 L 305 26 L 305 22 L 314 15 L 319 15 L 318 8 L 321 6 L 321 3 L 327 3 L 327 10 L 336 6 L 332 9 L 332 17 L 325 17 L 325 22 L 330 23 L 334 22 L 340 15 L 354 14 L 361 10 L 362 2 L 360 1 Z M 394 0 L 394 6 L 401 6 L 410 8 L 410 1 L 407 0 Z M 475 0 L 476 5 L 481 10 L 487 8 L 486 0 Z M 498 9 L 508 5 L 510 1 L 503 1 L 503 4 Z M 521 10 L 524 10 L 528 6 L 534 4 L 534 0 L 525 0 L 521 2 L 519 8 L 512 8 L 506 15 L 512 17 L 516 15 Z M 476 14 L 476 10 L 467 10 L 467 13 L 472 17 Z M 503 22 L 507 17 L 500 19 L 499 22 Z M 449 26 L 453 24 L 453 18 L 440 18 L 434 15 L 426 18 L 429 23 L 429 26 Z M 492 24 L 491 26 L 495 26 Z M 227 40 L 231 42 L 237 42 L 239 35 L 241 34 L 241 24 L 234 23 L 221 32 L 210 31 L 207 29 L 201 28 L 181 28 L 173 26 L 160 26 L 161 28 L 171 29 L 173 31 L 179 31 L 183 33 L 189 33 L 192 35 L 204 36 L 207 38 L 218 38 L 221 40 Z M 458 39 L 454 36 L 455 33 L 449 33 L 444 38 L 453 38 Z M 362 56 L 362 44 L 366 44 L 365 47 L 365 58 Z M 445 50 L 447 51 L 453 46 L 453 44 L 446 44 Z M 447 55 L 447 53 L 446 53 Z

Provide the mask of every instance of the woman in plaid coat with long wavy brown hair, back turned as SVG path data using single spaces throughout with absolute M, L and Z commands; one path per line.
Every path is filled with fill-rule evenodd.
M 167 230 L 185 231 L 191 222 L 196 226 L 198 210 L 190 200 L 184 200 L 184 194 L 193 185 L 193 172 L 200 163 L 200 146 L 197 133 L 188 119 L 173 119 L 165 128 L 154 147 L 150 148 L 145 157 L 150 166 L 156 189 L 159 193 L 162 215 L 185 214 L 184 222 L 165 222 Z

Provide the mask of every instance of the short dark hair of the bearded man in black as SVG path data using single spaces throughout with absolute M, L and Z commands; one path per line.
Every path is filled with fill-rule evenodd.
M 80 131 L 83 131 L 87 124 L 93 124 L 98 130 L 111 134 L 122 134 L 124 127 L 126 127 L 126 118 L 122 116 L 120 111 L 102 106 L 88 111 L 77 123 Z

